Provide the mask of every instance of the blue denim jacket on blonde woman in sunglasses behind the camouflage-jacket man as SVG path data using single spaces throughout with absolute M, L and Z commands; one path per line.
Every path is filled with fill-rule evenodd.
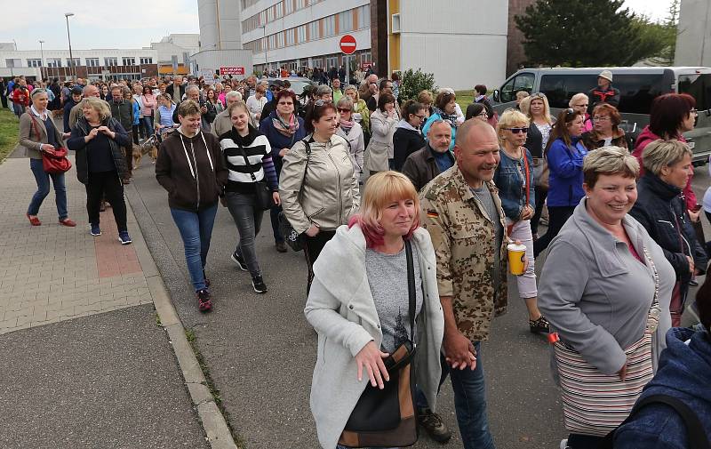
M 526 205 L 526 189 L 528 189 L 529 194 L 528 204 L 531 205 L 533 210 L 536 210 L 535 194 L 533 193 L 533 159 L 531 152 L 528 149 L 525 149 L 525 151 L 529 166 L 528 183 L 525 182 L 526 171 L 523 158 L 513 159 L 503 149 L 499 151 L 501 161 L 494 173 L 494 184 L 499 188 L 499 197 L 501 198 L 504 213 L 507 218 L 514 221 L 518 220 L 523 211 L 523 206 Z

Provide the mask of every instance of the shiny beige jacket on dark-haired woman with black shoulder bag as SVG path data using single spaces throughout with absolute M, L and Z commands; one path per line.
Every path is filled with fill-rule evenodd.
M 284 156 L 279 181 L 284 215 L 300 234 L 312 223 L 322 230 L 335 230 L 348 223 L 361 202 L 348 142 L 338 135 L 326 143 L 313 141 L 310 135 L 306 139 L 311 147 L 308 164 L 302 140 Z

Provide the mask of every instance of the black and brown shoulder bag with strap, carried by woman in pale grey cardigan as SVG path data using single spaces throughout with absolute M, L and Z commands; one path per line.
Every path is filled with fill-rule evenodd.
M 407 286 L 410 296 L 410 335 L 415 329 L 415 270 L 412 248 L 405 241 L 407 254 Z M 345 429 L 340 434 L 339 445 L 346 447 L 403 447 L 418 440 L 417 407 L 415 407 L 415 375 L 411 363 L 416 345 L 410 341 L 401 344 L 384 361 L 390 381 L 385 388 L 363 390 L 356 407 L 351 412 Z

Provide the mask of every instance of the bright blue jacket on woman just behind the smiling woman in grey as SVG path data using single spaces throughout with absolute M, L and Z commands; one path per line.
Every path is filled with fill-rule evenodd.
M 585 196 L 583 191 L 583 159 L 587 149 L 579 138 L 572 140 L 572 147 L 563 139 L 556 139 L 548 148 L 548 207 L 575 207 Z

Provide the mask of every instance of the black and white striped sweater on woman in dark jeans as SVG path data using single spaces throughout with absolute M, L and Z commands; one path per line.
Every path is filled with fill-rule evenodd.
M 234 126 L 220 135 L 220 147 L 229 171 L 226 191 L 253 193 L 254 182 L 264 180 L 265 177 L 272 191 L 279 190 L 269 140 L 251 124 L 250 133 L 244 137 L 239 135 Z

